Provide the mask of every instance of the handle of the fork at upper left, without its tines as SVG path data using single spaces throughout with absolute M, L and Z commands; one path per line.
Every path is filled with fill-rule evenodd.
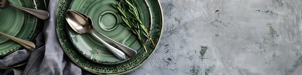
M 25 12 L 31 13 L 32 15 L 35 15 L 36 17 L 41 18 L 43 20 L 49 17 L 49 13 L 45 10 L 25 8 L 25 7 L 16 6 L 14 4 L 10 4 L 10 6 L 24 10 Z

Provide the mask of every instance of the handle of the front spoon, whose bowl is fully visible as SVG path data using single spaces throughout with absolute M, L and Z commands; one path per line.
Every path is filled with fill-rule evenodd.
M 100 40 L 106 47 L 108 47 L 110 49 L 110 51 L 119 59 L 125 59 L 125 53 L 123 53 L 122 51 L 120 51 L 119 49 L 116 49 L 115 47 L 111 46 L 110 44 L 106 43 L 105 41 L 103 41 L 100 37 L 98 37 L 97 35 L 95 35 L 94 33 L 91 32 L 91 34 L 98 38 L 98 40 Z

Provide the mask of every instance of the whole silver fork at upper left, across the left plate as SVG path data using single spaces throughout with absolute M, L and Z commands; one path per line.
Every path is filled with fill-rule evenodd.
M 44 20 L 49 17 L 49 13 L 47 11 L 45 11 L 45 10 L 24 8 L 24 7 L 20 7 L 20 6 L 16 6 L 16 5 L 10 4 L 8 2 L 8 0 L 0 0 L 0 8 L 5 8 L 6 6 L 13 6 L 15 8 L 19 8 L 21 10 L 24 10 L 25 12 L 31 13 L 32 15 L 35 15 L 36 17 L 44 19 Z

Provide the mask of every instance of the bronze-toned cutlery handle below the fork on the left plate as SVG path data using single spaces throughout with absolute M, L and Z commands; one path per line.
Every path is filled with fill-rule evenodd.
M 2 33 L 0 32 L 1 35 L 3 35 L 4 37 L 7 37 L 15 42 L 18 42 L 19 44 L 21 44 L 22 46 L 24 46 L 25 48 L 29 49 L 29 50 L 35 50 L 36 46 L 34 43 L 30 42 L 30 41 L 26 41 L 26 40 L 22 40 L 13 36 L 10 36 L 8 34 Z

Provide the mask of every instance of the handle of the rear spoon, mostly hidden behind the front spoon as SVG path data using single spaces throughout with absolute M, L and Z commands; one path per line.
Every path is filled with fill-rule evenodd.
M 93 30 L 93 31 L 97 32 L 98 34 L 100 34 L 101 36 L 105 37 L 110 42 L 113 42 L 117 47 L 120 47 L 120 49 L 122 49 L 131 58 L 133 58 L 137 54 L 137 51 L 135 51 L 135 50 L 131 49 L 130 47 L 127 47 L 119 42 L 116 42 L 115 40 L 112 40 L 111 38 L 105 36 L 101 32 L 98 32 L 95 28 L 92 27 L 91 30 Z

